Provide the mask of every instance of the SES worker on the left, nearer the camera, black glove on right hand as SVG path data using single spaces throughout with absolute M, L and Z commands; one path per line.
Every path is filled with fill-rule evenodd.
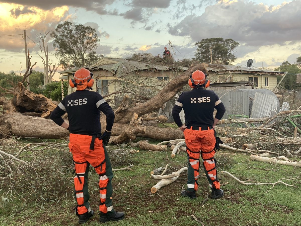
M 50 118 L 70 131 L 69 149 L 75 164 L 74 195 L 77 201 L 76 215 L 79 223 L 85 223 L 94 214 L 90 208 L 88 172 L 90 164 L 99 175 L 100 221 L 121 220 L 123 212 L 112 206 L 112 167 L 105 145 L 109 142 L 114 122 L 114 112 L 97 92 L 90 92 L 94 84 L 93 74 L 85 68 L 77 70 L 69 81 L 76 92 L 66 96 L 54 109 Z M 107 116 L 107 125 L 101 135 L 100 114 Z M 67 112 L 69 124 L 61 117 Z

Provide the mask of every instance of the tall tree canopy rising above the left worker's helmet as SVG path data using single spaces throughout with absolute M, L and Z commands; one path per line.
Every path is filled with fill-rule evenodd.
M 100 39 L 92 27 L 66 21 L 57 25 L 51 37 L 64 69 L 86 67 L 98 60 L 95 50 Z

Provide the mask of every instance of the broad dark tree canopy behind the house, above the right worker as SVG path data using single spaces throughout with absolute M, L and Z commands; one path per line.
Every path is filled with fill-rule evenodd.
M 239 45 L 233 39 L 210 38 L 202 39 L 195 43 L 197 51 L 194 53 L 195 59 L 200 62 L 210 63 L 210 47 L 212 48 L 213 64 L 231 64 L 236 60 L 234 50 Z

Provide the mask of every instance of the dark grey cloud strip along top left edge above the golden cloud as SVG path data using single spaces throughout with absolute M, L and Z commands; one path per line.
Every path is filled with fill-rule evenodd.
M 63 5 L 72 7 L 81 7 L 87 10 L 95 11 L 98 14 L 105 15 L 111 14 L 106 10 L 106 5 L 111 5 L 115 0 L 52 0 L 52 1 L 36 1 L 36 0 L 4 0 L 2 2 L 15 3 L 26 6 L 35 6 L 43 10 L 50 10 L 55 7 L 60 7 Z

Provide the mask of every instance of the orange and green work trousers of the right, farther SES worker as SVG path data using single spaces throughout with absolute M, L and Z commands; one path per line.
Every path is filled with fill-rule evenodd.
M 187 191 L 197 191 L 200 168 L 200 155 L 210 188 L 220 189 L 217 178 L 214 130 L 210 127 L 187 127 L 184 130 L 188 155 Z

